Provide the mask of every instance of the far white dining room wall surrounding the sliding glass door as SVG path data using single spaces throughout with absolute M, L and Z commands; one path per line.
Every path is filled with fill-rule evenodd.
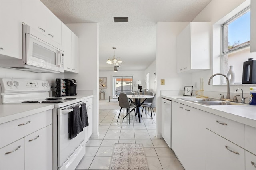
M 137 90 L 137 80 L 141 80 L 142 88 L 145 87 L 145 77 L 144 71 L 99 71 L 99 77 L 107 77 L 107 86 L 108 88 L 104 89 L 105 91 L 105 99 L 109 99 L 109 96 L 112 96 L 112 77 L 113 76 L 133 76 L 133 89 Z M 101 97 L 103 99 L 103 97 Z

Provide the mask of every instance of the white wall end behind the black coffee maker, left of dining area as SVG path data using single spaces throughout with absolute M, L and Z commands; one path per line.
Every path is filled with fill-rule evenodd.
M 93 132 L 98 137 L 99 103 L 98 103 L 98 23 L 66 24 L 79 38 L 79 73 L 65 73 L 65 77 L 76 79 L 77 89 L 93 91 Z

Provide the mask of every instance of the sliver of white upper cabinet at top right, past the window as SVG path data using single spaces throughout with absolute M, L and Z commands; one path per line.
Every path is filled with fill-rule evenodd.
M 250 51 L 256 52 L 256 0 L 251 0 Z

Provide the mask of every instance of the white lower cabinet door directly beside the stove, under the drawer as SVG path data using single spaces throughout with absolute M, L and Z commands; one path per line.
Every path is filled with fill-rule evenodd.
M 52 169 L 52 125 L 25 137 L 25 169 Z

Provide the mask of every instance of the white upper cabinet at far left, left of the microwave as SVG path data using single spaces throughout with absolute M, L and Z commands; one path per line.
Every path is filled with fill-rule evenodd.
M 0 1 L 0 55 L 22 59 L 22 2 Z

